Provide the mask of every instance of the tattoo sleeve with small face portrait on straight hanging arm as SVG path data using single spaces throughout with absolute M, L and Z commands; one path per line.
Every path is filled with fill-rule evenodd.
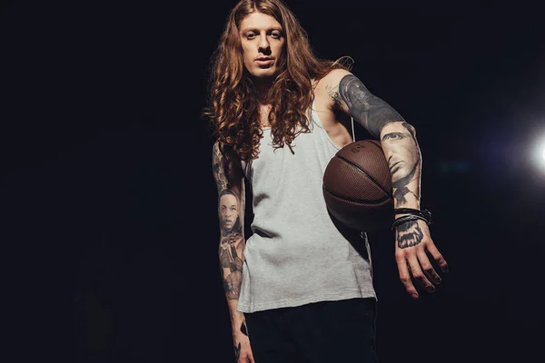
M 243 279 L 244 184 L 240 175 L 219 151 L 213 148 L 213 175 L 218 188 L 218 216 L 221 240 L 219 247 L 220 270 L 227 299 L 239 299 Z

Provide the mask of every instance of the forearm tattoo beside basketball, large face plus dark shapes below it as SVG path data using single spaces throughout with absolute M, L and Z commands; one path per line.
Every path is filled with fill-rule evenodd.
M 391 174 L 393 198 L 397 205 L 407 202 L 406 195 L 412 194 L 420 200 L 420 182 L 415 191 L 409 190 L 409 183 L 415 177 L 420 179 L 421 153 L 416 135 L 409 123 L 401 123 L 403 132 L 389 132 L 382 136 L 382 149 L 388 157 L 388 166 Z

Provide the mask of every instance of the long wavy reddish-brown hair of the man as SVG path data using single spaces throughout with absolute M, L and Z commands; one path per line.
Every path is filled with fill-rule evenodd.
M 244 17 L 259 12 L 282 25 L 286 38 L 279 73 L 269 90 L 269 113 L 274 148 L 288 145 L 300 132 L 309 131 L 306 111 L 312 104 L 312 79 L 320 80 L 333 68 L 350 69 L 352 58 L 336 61 L 316 57 L 308 35 L 282 0 L 241 0 L 227 17 L 219 44 L 213 53 L 208 83 L 208 118 L 213 137 L 227 157 L 243 161 L 257 158 L 263 130 L 259 103 L 251 75 L 243 65 L 239 26 Z

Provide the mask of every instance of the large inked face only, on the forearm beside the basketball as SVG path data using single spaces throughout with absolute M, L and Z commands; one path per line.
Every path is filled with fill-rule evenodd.
M 391 123 L 384 126 L 382 142 L 391 143 L 394 146 L 391 148 L 392 152 L 386 156 L 388 164 L 391 165 L 391 179 L 395 182 L 411 174 L 418 162 L 419 154 L 414 148 L 416 141 L 411 135 L 389 130 L 391 127 Z

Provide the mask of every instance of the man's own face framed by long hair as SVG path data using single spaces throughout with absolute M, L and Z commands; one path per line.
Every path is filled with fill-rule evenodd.
M 240 25 L 243 63 L 256 78 L 269 78 L 279 72 L 285 37 L 282 25 L 270 15 L 253 13 Z

